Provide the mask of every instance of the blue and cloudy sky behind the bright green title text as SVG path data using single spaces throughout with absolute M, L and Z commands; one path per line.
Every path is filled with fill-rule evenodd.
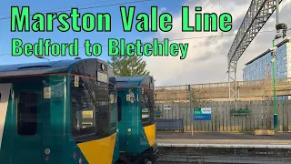
M 200 37 L 200 36 L 216 36 L 216 37 L 202 37 L 194 39 L 185 39 L 175 41 L 176 43 L 189 43 L 188 53 L 186 59 L 181 60 L 177 56 L 146 56 L 144 57 L 147 62 L 147 69 L 156 78 L 156 86 L 173 86 L 182 84 L 196 84 L 196 83 L 216 83 L 227 80 L 227 53 L 235 36 L 223 36 L 226 33 L 221 32 L 182 32 L 181 30 L 181 9 L 183 5 L 190 6 L 190 23 L 195 21 L 194 7 L 201 5 L 203 12 L 213 13 L 217 15 L 221 13 L 230 13 L 233 16 L 233 28 L 227 33 L 236 35 L 239 26 L 242 23 L 246 11 L 251 3 L 251 0 L 152 0 L 149 2 L 140 2 L 135 4 L 136 13 L 147 13 L 150 15 L 150 7 L 158 6 L 158 13 L 166 12 L 173 15 L 173 29 L 171 32 L 156 32 L 156 33 L 138 33 L 135 30 L 130 33 L 123 32 L 121 17 L 118 4 L 126 2 L 134 2 L 135 0 L 87 0 L 85 2 L 76 0 L 63 0 L 63 1 L 4 1 L 0 6 L 0 19 L 1 17 L 10 17 L 11 6 L 30 6 L 31 14 L 36 12 L 52 12 L 69 10 L 71 7 L 90 9 L 80 10 L 83 13 L 110 13 L 112 17 L 112 32 L 73 32 L 66 33 L 55 30 L 50 33 L 35 33 L 23 32 L 12 33 L 10 32 L 11 20 L 0 20 L 0 65 L 38 62 L 35 56 L 11 56 L 11 39 L 21 38 L 23 42 L 35 43 L 38 38 L 52 39 L 52 42 L 57 43 L 71 43 L 74 38 L 79 39 L 79 46 L 83 46 L 85 39 L 90 39 L 91 43 L 100 43 L 103 46 L 107 45 L 108 38 L 125 38 L 126 42 L 132 42 L 135 39 L 142 39 L 142 41 L 150 41 L 152 38 L 186 38 L 186 37 Z M 96 6 L 96 7 L 95 7 Z M 97 7 L 99 6 L 99 7 Z M 126 5 L 128 6 L 128 5 Z M 291 0 L 283 0 L 280 5 L 280 22 L 286 23 L 291 27 Z M 268 20 L 266 25 L 261 31 L 269 31 L 275 29 L 276 25 L 276 12 Z M 217 36 L 222 35 L 222 36 Z M 267 48 L 272 46 L 272 39 L 276 32 L 261 33 L 256 36 L 250 46 L 247 47 L 246 52 L 238 61 L 237 79 L 242 80 L 243 67 L 247 61 L 260 55 Z M 287 36 L 291 36 L 290 32 Z M 282 41 L 278 40 L 277 42 Z M 82 58 L 85 56 L 84 49 L 80 49 Z M 50 60 L 59 60 L 63 58 L 72 58 L 71 56 L 50 56 Z M 103 54 L 99 58 L 107 60 L 106 47 L 103 49 Z

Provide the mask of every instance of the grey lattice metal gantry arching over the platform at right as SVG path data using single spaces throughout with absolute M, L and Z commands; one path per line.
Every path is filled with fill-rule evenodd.
M 276 5 L 283 0 L 252 0 L 246 12 L 242 25 L 239 27 L 236 38 L 230 47 L 228 59 L 228 90 L 229 102 L 237 98 L 236 67 L 238 59 L 244 54 L 247 46 L 253 41 L 266 21 L 276 10 Z M 276 4 L 278 2 L 278 4 Z

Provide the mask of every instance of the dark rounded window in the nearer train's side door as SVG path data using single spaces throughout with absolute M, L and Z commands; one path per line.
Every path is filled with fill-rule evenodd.
M 37 95 L 22 92 L 17 104 L 17 132 L 22 136 L 33 136 L 37 128 Z

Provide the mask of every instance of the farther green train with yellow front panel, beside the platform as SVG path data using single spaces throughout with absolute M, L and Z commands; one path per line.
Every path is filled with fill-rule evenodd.
M 127 163 L 156 161 L 154 78 L 116 77 L 120 159 Z

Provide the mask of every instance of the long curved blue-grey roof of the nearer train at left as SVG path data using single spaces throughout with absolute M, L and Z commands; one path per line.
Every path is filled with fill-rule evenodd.
M 25 75 L 42 75 L 53 73 L 71 73 L 75 64 L 85 60 L 96 60 L 101 63 L 104 61 L 97 58 L 75 58 L 70 60 L 58 60 L 51 62 L 37 62 L 14 65 L 0 66 L 0 77 L 17 77 Z M 106 63 L 105 63 L 106 64 Z

